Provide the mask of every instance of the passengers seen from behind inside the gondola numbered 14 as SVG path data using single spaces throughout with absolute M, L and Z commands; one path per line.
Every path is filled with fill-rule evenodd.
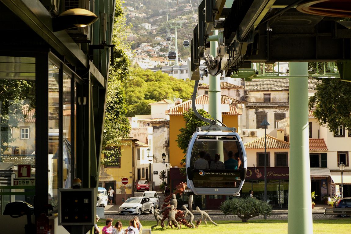
M 233 154 L 233 151 L 229 151 L 228 159 L 224 162 L 220 161 L 220 154 L 214 154 L 214 160 L 211 158 L 210 153 L 206 153 L 205 151 L 199 152 L 199 158 L 194 163 L 194 169 L 201 170 L 238 170 L 241 166 L 241 160 L 239 158 L 239 152 Z

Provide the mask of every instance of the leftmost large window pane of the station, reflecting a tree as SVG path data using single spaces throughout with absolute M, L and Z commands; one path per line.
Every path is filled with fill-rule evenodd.
M 18 171 L 14 168 L 19 164 L 31 165 L 32 169 L 26 172 L 35 177 L 35 58 L 0 56 L 0 94 L 0 156 L 9 171 L 3 171 L 0 185 L 11 186 L 12 176 L 13 183 L 18 183 Z M 32 194 L 0 195 L 1 207 L 14 200 L 33 205 L 33 198 Z

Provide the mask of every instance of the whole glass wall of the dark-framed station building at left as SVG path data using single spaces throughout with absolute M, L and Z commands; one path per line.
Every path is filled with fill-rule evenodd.
M 36 105 L 46 103 L 36 100 L 35 84 L 38 81 L 48 82 L 47 93 L 41 92 L 43 98 L 47 97 L 48 107 L 45 116 L 49 203 L 57 205 L 58 188 L 71 188 L 72 177 L 76 174 L 76 163 L 73 163 L 77 149 L 77 82 L 73 80 L 76 75 L 54 56 L 49 56 L 47 78 L 36 77 L 38 67 L 36 58 L 0 56 L 0 186 L 16 186 L 0 188 L 1 213 L 5 205 L 14 200 L 34 205 L 35 120 L 36 113 L 40 113 L 36 112 L 40 109 L 36 109 Z M 45 185 L 43 188 L 46 190 Z M 20 193 L 12 196 L 11 192 Z

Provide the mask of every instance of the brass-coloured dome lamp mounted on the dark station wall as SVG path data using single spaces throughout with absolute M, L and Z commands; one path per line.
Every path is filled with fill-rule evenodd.
M 69 9 L 52 19 L 53 32 L 74 27 L 86 27 L 99 18 L 91 11 L 82 8 Z

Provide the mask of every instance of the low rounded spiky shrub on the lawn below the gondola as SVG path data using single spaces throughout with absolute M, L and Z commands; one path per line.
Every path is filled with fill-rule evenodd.
M 273 207 L 267 202 L 250 197 L 223 201 L 219 209 L 223 214 L 237 215 L 243 222 L 259 215 L 271 215 Z

